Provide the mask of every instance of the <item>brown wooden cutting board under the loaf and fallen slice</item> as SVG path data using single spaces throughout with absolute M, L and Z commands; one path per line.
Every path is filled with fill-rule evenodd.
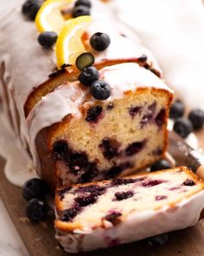
M 200 141 L 204 135 L 200 135 Z M 3 159 L 0 159 L 0 196 L 10 214 L 11 220 L 31 256 L 63 256 L 73 255 L 64 253 L 54 239 L 54 213 L 48 213 L 48 218 L 40 223 L 30 222 L 24 215 L 26 201 L 21 195 L 21 188 L 15 187 L 6 180 L 3 174 Z M 136 231 L 137 232 L 137 231 Z M 182 231 L 169 233 L 169 241 L 165 246 L 150 247 L 145 241 L 139 241 L 129 245 L 118 246 L 92 253 L 79 253 L 86 256 L 203 256 L 204 255 L 204 220 L 196 226 Z

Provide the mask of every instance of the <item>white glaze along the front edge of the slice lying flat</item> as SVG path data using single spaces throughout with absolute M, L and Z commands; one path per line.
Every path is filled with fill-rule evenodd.
M 107 247 L 107 240 L 119 240 L 121 244 L 143 240 L 160 233 L 194 226 L 204 208 L 204 191 L 177 203 L 174 208 L 163 207 L 158 211 L 132 213 L 127 220 L 111 229 L 98 228 L 92 232 L 56 234 L 61 245 L 69 253 L 90 251 Z M 165 223 L 165 225 L 164 225 Z

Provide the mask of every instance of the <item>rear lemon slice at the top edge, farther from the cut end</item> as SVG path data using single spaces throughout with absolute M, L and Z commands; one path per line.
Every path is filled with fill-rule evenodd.
M 72 2 L 73 0 L 47 0 L 42 3 L 41 9 L 35 17 L 37 29 L 40 32 L 54 31 L 59 34 L 66 22 L 61 10 L 66 9 Z

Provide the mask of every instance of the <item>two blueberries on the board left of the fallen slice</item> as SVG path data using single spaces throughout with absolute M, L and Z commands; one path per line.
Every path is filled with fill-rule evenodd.
M 22 187 L 22 196 L 28 200 L 25 213 L 29 220 L 35 222 L 42 220 L 48 213 L 48 205 L 45 201 L 48 187 L 40 179 L 31 179 L 26 181 Z

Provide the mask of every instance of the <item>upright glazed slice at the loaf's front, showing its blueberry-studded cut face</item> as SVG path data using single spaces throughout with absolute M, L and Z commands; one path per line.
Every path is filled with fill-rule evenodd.
M 172 91 L 161 79 L 137 63 L 122 63 L 99 69 L 91 91 L 79 81 L 64 83 L 29 114 L 31 153 L 49 184 L 55 183 L 51 170 L 63 185 L 104 180 L 165 153 Z

